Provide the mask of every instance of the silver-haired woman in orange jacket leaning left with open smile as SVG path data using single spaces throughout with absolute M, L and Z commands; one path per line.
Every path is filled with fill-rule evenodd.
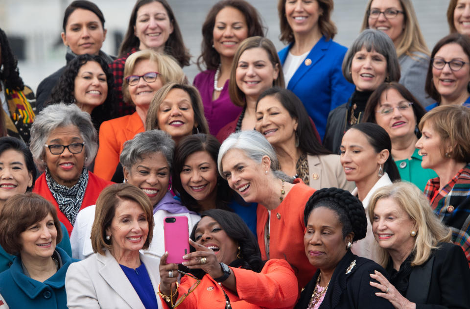
M 316 268 L 305 256 L 304 208 L 315 192 L 297 178 L 276 169 L 276 152 L 254 130 L 231 134 L 222 143 L 217 158 L 219 173 L 229 186 L 249 203 L 258 203 L 257 236 L 263 260 L 288 261 L 304 287 Z

